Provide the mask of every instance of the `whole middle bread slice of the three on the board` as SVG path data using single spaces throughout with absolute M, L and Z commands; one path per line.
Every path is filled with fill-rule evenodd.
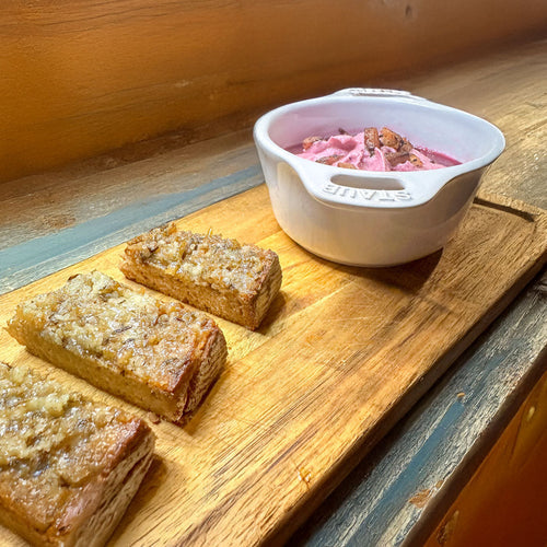
M 8 331 L 31 353 L 175 422 L 226 360 L 224 336 L 206 314 L 100 271 L 21 303 Z

